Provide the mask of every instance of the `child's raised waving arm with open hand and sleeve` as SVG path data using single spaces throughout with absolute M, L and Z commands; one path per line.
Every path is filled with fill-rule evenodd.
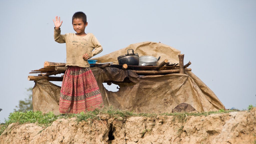
M 55 40 L 55 42 L 66 43 L 65 35 L 60 34 L 60 26 L 62 24 L 62 21 L 60 22 L 60 17 L 58 18 L 58 16 L 56 16 L 55 21 L 54 21 L 54 19 L 52 19 L 52 20 L 53 20 L 54 25 L 55 25 L 55 28 L 54 28 L 54 40 Z

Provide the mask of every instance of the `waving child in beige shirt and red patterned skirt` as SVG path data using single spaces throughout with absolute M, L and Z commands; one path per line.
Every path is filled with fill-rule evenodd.
M 53 22 L 54 39 L 58 43 L 66 43 L 67 50 L 68 69 L 60 90 L 60 113 L 80 113 L 101 108 L 103 101 L 100 89 L 87 60 L 102 52 L 102 47 L 93 34 L 84 32 L 88 25 L 86 15 L 83 12 L 74 13 L 72 25 L 76 34 L 61 35 L 60 17 L 56 16 Z

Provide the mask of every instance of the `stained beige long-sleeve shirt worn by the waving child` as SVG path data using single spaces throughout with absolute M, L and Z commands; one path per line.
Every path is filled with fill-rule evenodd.
M 87 53 L 90 59 L 102 52 L 102 46 L 92 33 L 86 36 L 77 36 L 74 33 L 61 35 L 60 30 L 54 28 L 54 39 L 58 43 L 66 43 L 66 66 L 90 67 L 88 61 L 83 59 L 83 55 Z

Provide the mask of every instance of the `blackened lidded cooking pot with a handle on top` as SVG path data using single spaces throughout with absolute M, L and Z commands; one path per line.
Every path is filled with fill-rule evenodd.
M 129 50 L 132 50 L 132 54 L 129 54 Z M 127 65 L 132 65 L 132 66 L 137 66 L 139 65 L 139 55 L 134 54 L 133 49 L 128 49 L 127 54 L 121 55 L 117 58 L 119 65 L 127 64 Z

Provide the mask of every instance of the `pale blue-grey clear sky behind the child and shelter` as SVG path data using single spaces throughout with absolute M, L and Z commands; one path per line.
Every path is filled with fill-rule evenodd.
M 52 19 L 63 20 L 62 34 L 74 33 L 77 11 L 86 13 L 86 33 L 103 46 L 97 56 L 133 43 L 161 42 L 185 54 L 184 63 L 192 62 L 192 72 L 226 108 L 256 105 L 255 0 L 0 0 L 0 122 L 34 86 L 27 80 L 31 70 L 44 61 L 65 62 L 65 44 L 54 41 Z

